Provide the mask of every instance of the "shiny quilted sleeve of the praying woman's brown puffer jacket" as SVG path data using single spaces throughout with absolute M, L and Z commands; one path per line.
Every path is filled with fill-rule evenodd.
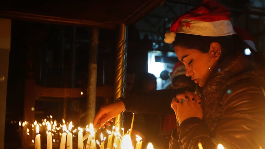
M 189 118 L 179 127 L 183 148 L 198 148 L 198 142 L 207 149 L 216 149 L 218 143 L 227 149 L 265 148 L 265 98 L 261 86 L 250 79 L 239 80 L 221 99 L 223 116 L 214 136 L 202 120 Z

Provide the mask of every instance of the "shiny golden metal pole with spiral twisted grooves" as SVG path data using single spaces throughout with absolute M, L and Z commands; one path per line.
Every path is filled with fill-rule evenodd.
M 114 101 L 125 95 L 125 80 L 127 67 L 127 26 L 120 24 L 118 26 L 118 44 L 116 49 L 115 63 L 115 84 Z M 116 127 L 121 128 L 121 114 L 114 121 Z

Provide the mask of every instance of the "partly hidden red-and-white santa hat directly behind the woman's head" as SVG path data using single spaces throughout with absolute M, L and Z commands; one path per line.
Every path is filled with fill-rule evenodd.
M 235 33 L 247 43 L 254 51 L 257 52 L 256 46 L 254 44 L 254 37 L 245 29 L 238 26 L 234 26 Z

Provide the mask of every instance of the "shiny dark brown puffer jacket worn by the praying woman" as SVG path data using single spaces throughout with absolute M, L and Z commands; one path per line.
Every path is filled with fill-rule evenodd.
M 217 69 L 202 90 L 204 120 L 189 118 L 178 127 L 182 148 L 198 148 L 199 142 L 206 149 L 219 143 L 227 149 L 265 148 L 265 69 L 253 68 L 240 54 Z

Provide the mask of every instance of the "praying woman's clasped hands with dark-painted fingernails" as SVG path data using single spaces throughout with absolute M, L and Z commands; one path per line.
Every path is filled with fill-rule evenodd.
M 203 119 L 201 98 L 197 94 L 194 95 L 194 92 L 186 91 L 185 93 L 177 94 L 171 102 L 171 108 L 175 108 L 174 112 L 180 124 L 190 117 Z

